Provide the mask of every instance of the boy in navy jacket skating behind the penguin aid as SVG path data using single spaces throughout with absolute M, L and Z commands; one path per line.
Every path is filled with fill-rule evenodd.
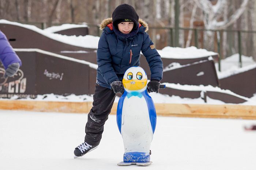
M 97 49 L 98 69 L 93 107 L 88 114 L 84 142 L 75 148 L 75 157 L 98 147 L 116 93 L 124 92 L 124 72 L 130 67 L 140 66 L 140 51 L 146 57 L 151 71 L 148 92 L 158 92 L 163 75 L 161 57 L 146 33 L 147 23 L 139 19 L 131 5 L 119 5 L 112 18 L 103 20 L 100 27 L 103 33 Z

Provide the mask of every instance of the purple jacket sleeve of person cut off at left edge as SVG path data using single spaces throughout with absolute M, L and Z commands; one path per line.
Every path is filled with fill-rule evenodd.
M 21 60 L 2 31 L 0 31 L 0 60 L 5 70 L 12 63 L 19 63 L 21 66 Z

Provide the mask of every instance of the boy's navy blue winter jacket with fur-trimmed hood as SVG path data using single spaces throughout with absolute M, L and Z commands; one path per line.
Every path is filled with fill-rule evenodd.
M 97 49 L 97 84 L 110 88 L 114 81 L 122 81 L 125 71 L 140 66 L 140 51 L 146 57 L 151 71 L 151 80 L 161 80 L 163 63 L 161 56 L 146 33 L 147 23 L 139 19 L 138 27 L 123 34 L 112 26 L 112 18 L 102 21 L 103 33 Z M 115 30 L 114 30 L 115 29 Z

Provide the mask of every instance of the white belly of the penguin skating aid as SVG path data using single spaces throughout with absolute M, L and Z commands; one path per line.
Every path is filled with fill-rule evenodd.
M 153 130 L 151 127 L 148 106 L 144 96 L 125 97 L 122 109 L 121 135 L 125 153 L 149 153 Z

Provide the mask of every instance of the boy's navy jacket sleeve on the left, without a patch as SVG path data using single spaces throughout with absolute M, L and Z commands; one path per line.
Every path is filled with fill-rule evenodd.
M 100 74 L 108 84 L 119 80 L 116 73 L 114 72 L 114 68 L 112 67 L 112 59 L 109 51 L 107 34 L 105 32 L 103 32 L 99 38 L 97 63 Z

